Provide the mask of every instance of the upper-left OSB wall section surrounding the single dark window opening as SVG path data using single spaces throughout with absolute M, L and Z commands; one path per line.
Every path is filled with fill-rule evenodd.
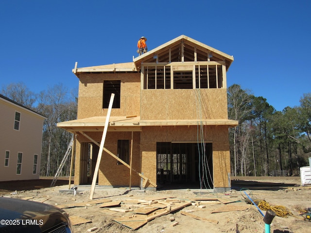
M 78 119 L 92 116 L 106 116 L 103 109 L 103 89 L 105 80 L 121 80 L 120 108 L 113 108 L 111 116 L 140 115 L 140 74 L 109 73 L 80 74 Z

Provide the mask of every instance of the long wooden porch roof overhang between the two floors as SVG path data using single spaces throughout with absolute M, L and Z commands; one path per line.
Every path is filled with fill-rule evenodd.
M 103 132 L 105 116 L 94 116 L 57 123 L 57 127 L 69 132 Z M 229 119 L 186 119 L 186 120 L 140 120 L 140 116 L 110 116 L 108 131 L 141 131 L 143 126 L 190 126 L 190 125 L 225 125 L 229 128 L 239 124 Z

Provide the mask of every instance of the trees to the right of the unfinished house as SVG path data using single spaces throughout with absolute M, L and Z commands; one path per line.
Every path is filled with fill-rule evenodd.
M 228 117 L 239 121 L 229 130 L 232 175 L 292 176 L 309 165 L 311 93 L 282 111 L 238 84 L 228 88 L 227 97 Z

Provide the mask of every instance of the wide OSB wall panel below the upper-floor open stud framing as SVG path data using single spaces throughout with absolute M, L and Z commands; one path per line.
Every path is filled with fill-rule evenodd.
M 140 118 L 227 119 L 227 92 L 225 88 L 141 90 Z

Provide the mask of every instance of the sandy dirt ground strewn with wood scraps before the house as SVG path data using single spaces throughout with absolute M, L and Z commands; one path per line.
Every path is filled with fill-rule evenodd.
M 49 187 L 51 179 L 1 182 L 0 196 L 44 201 L 57 204 L 58 207 L 84 203 L 80 207 L 64 209 L 70 217 L 82 217 L 89 221 L 73 226 L 75 233 L 85 233 L 91 228 L 97 228 L 93 233 L 263 233 L 263 216 L 254 205 L 245 202 L 245 191 L 252 200 L 265 200 L 270 206 L 286 207 L 289 214 L 286 217 L 276 216 L 271 224 L 271 232 L 310 232 L 311 221 L 304 220 L 298 211 L 311 207 L 311 187 L 300 186 L 300 177 L 232 177 L 231 180 L 232 189 L 225 194 L 211 193 L 206 189 L 166 189 L 156 192 L 128 188 L 95 189 L 93 200 L 121 201 L 116 208 L 128 211 L 124 213 L 109 210 L 111 207 L 102 208 L 101 203 L 86 204 L 90 201 L 89 190 L 78 188 L 76 196 L 71 192 L 60 192 L 69 188 L 68 181 L 61 179 L 54 187 Z M 176 204 L 189 205 L 157 216 L 137 230 L 114 220 L 121 216 L 135 219 L 138 208 L 148 209 L 152 206 L 150 204 L 163 202 L 169 203 L 170 210 Z M 157 209 L 152 214 L 156 215 L 162 210 Z M 265 212 L 262 211 L 263 214 Z

